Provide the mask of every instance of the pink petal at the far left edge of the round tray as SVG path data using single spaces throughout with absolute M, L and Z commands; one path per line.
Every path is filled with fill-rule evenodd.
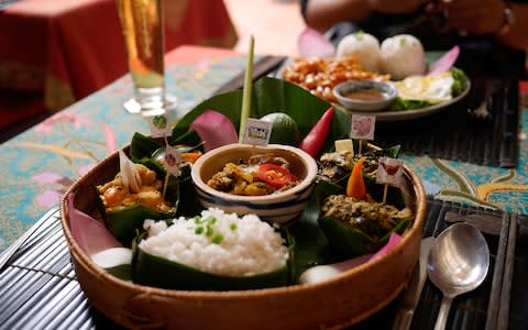
M 123 246 L 101 222 L 77 210 L 74 200 L 75 194 L 70 194 L 67 200 L 69 228 L 75 241 L 86 254 L 91 256 L 107 249 Z

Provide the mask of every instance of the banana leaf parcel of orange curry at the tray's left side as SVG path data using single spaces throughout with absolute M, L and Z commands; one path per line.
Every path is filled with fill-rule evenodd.
M 145 219 L 173 218 L 180 205 L 180 186 L 190 185 L 190 161 L 185 162 L 185 158 L 180 164 L 180 177 L 166 177 L 163 161 L 156 157 L 163 145 L 136 133 L 130 158 L 120 151 L 120 172 L 96 187 L 105 224 L 124 246 L 131 246 Z M 199 154 L 198 151 L 196 157 Z

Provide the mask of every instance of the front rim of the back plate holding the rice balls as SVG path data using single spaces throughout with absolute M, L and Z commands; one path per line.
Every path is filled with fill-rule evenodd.
M 413 110 L 403 110 L 403 111 L 373 111 L 373 112 L 365 112 L 365 111 L 358 111 L 353 112 L 350 110 L 346 110 L 342 106 L 338 106 L 340 109 L 343 109 L 344 111 L 349 113 L 360 113 L 360 114 L 373 114 L 376 116 L 376 121 L 400 121 L 400 120 L 409 120 L 409 119 L 417 119 L 421 117 L 426 117 L 432 113 L 436 113 L 438 111 L 444 110 L 451 105 L 457 103 L 461 99 L 463 99 L 468 92 L 471 89 L 471 82 L 469 79 L 465 80 L 465 89 L 462 91 L 459 96 L 455 98 L 441 102 L 438 105 L 433 105 L 430 107 L 421 108 L 421 109 L 413 109 Z

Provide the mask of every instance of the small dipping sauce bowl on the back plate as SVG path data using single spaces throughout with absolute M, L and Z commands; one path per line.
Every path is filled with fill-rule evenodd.
M 351 111 L 377 111 L 397 97 L 394 85 L 377 80 L 349 80 L 333 88 L 338 101 Z

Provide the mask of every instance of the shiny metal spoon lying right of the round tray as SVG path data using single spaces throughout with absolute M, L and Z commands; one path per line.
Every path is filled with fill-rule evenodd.
M 427 260 L 427 275 L 443 294 L 436 330 L 446 329 L 453 298 L 481 285 L 488 267 L 490 249 L 473 226 L 455 223 L 437 238 Z

